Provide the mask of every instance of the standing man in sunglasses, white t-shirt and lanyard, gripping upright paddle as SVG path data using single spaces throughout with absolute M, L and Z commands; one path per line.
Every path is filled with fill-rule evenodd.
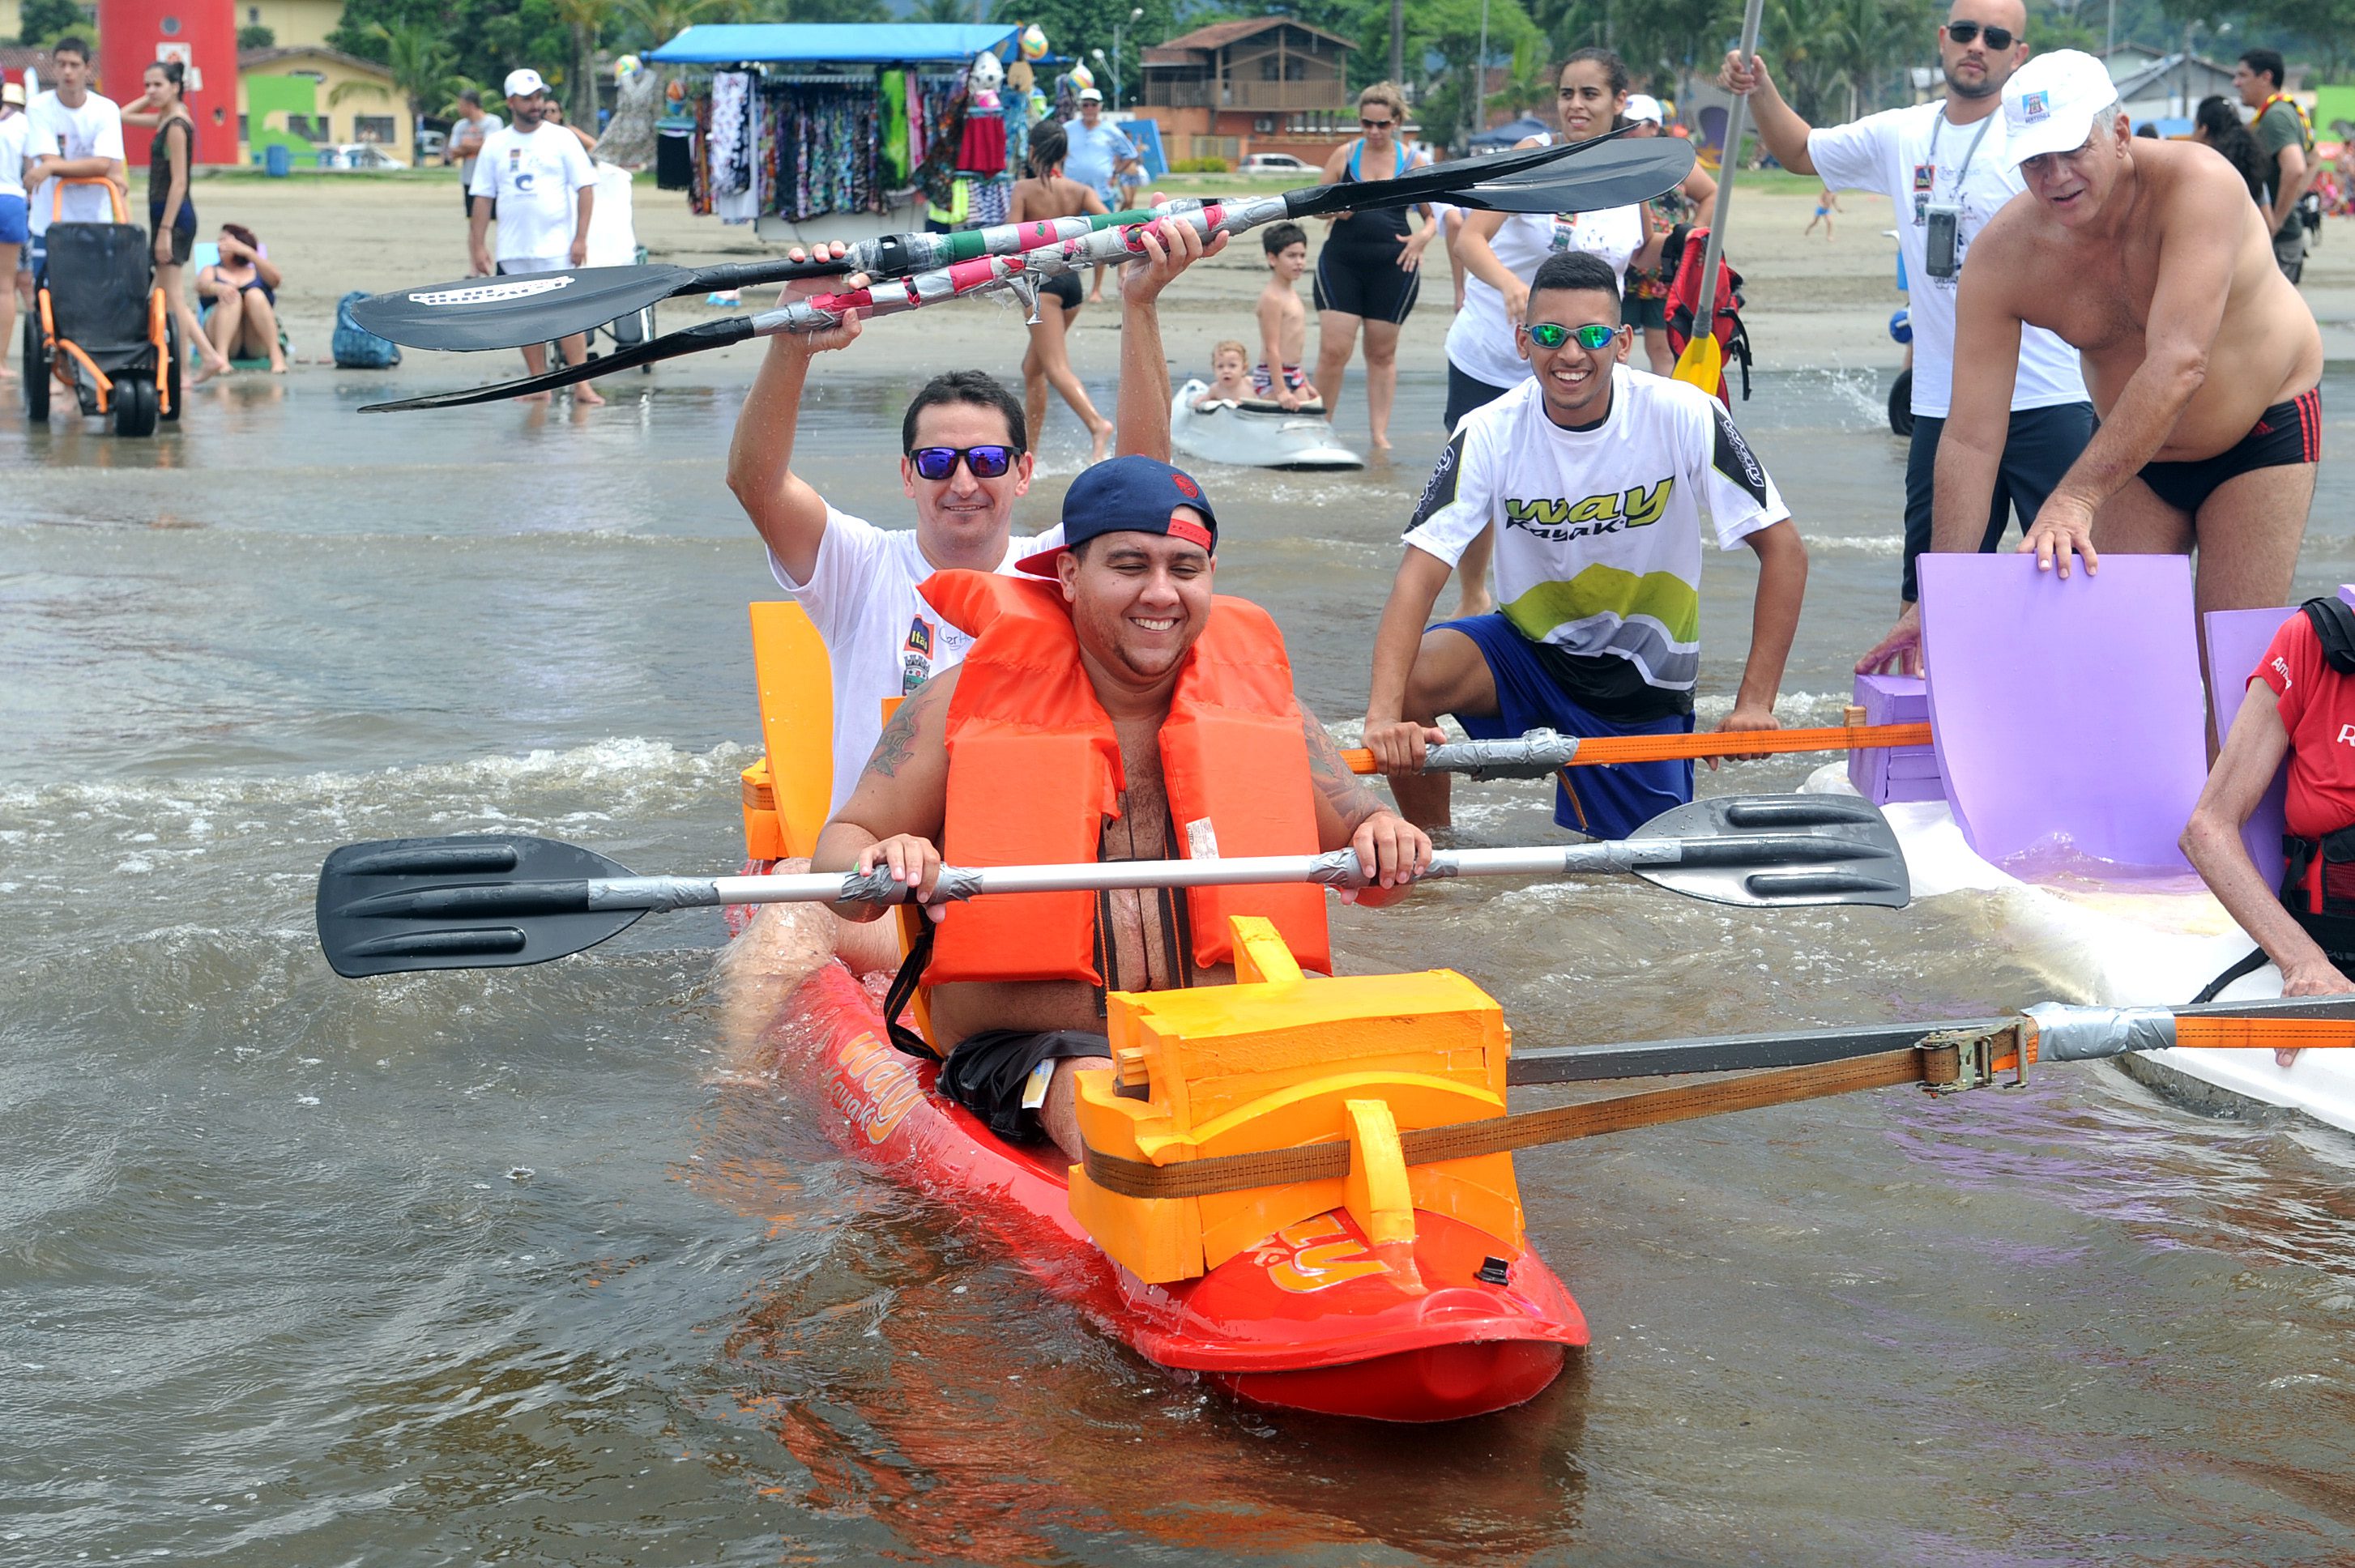
M 1811 127 L 1776 92 L 1764 59 L 1743 64 L 1726 54 L 1717 82 L 1750 99 L 1750 118 L 1766 151 L 1795 174 L 1825 188 L 1872 191 L 1896 202 L 1898 259 L 1912 278 L 1912 447 L 1905 454 L 1905 567 L 1898 577 L 1898 626 L 1856 662 L 1858 673 L 1922 666 L 1912 603 L 1915 560 L 1931 544 L 1931 476 L 1945 433 L 1948 393 L 1957 351 L 1981 344 L 1955 337 L 1955 292 L 1962 259 L 1978 231 L 2023 191 L 2004 158 L 2002 92 L 2028 59 L 2028 12 L 2021 0 L 1955 0 L 1938 28 L 1945 97 L 1889 108 L 1853 125 Z M 1978 549 L 2004 537 L 2006 513 L 2021 527 L 2094 438 L 2094 405 L 2077 374 L 2077 351 L 2044 330 L 2021 337 L 2018 374 L 2009 391 L 2011 419 L 2002 436 L 1995 492 Z

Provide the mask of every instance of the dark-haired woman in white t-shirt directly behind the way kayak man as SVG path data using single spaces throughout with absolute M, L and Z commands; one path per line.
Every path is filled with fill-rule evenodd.
M 1627 125 L 1627 61 L 1611 49 L 1578 49 L 1554 73 L 1559 141 L 1592 141 Z M 1521 146 L 1547 146 L 1557 137 L 1531 137 Z M 1611 264 L 1625 294 L 1627 268 L 1660 257 L 1644 207 L 1604 212 L 1474 212 L 1455 235 L 1455 261 L 1465 275 L 1465 308 L 1448 325 L 1448 412 L 1453 431 L 1477 407 L 1495 403 L 1528 377 L 1517 332 L 1528 306 L 1528 280 L 1547 257 L 1585 252 Z M 1488 556 L 1481 537 L 1465 553 L 1455 577 L 1462 596 L 1458 614 L 1481 614 L 1488 598 Z

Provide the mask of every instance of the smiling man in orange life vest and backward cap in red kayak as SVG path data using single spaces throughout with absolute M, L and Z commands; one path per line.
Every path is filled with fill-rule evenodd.
M 1210 591 L 1218 513 L 1201 485 L 1163 461 L 1116 457 L 1072 480 L 1062 534 L 1020 563 L 1022 577 L 940 572 L 923 584 L 975 643 L 900 704 L 812 869 L 885 869 L 930 904 L 942 855 L 1027 864 L 1349 848 L 1375 883 L 1364 902 L 1404 895 L 1432 843 L 1349 775 L 1293 697 L 1274 619 Z M 1112 1067 L 1104 991 L 1232 982 L 1222 913 L 1274 921 L 1302 965 L 1321 968 L 1321 899 L 1316 888 L 1147 888 L 935 909 L 937 937 L 907 965 L 930 965 L 940 1092 L 1001 1137 L 1053 1137 L 1079 1158 L 1072 1074 Z M 878 906 L 836 913 L 871 921 Z

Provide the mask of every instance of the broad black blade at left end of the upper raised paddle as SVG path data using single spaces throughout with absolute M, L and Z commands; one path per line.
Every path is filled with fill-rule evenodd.
M 636 315 L 676 294 L 838 278 L 848 261 L 728 261 L 721 266 L 589 266 L 513 278 L 459 278 L 374 294 L 351 318 L 410 348 L 473 353 L 553 344 L 560 337 Z

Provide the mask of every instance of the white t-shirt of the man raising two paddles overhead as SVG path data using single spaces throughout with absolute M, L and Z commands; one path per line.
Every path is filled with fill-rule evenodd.
M 579 146 L 579 141 L 575 141 Z M 1006 542 L 999 572 L 1062 546 L 1062 525 L 1036 537 Z M 916 530 L 883 530 L 827 506 L 827 532 L 817 542 L 810 582 L 794 582 L 784 563 L 768 558 L 777 586 L 794 596 L 827 640 L 834 666 L 834 798 L 831 817 L 850 798 L 876 737 L 883 735 L 883 699 L 907 697 L 918 685 L 963 664 L 973 636 L 916 593 L 933 563 L 916 549 Z

